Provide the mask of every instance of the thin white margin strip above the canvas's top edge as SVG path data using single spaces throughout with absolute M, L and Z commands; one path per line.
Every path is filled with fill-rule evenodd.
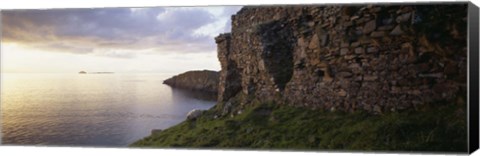
M 0 9 L 49 9 L 49 8 L 99 8 L 99 7 L 152 7 L 152 6 L 206 6 L 206 5 L 259 5 L 259 4 L 340 4 L 340 3 L 408 3 L 452 2 L 466 0 L 5 0 Z M 474 0 L 478 1 L 478 0 Z M 478 3 L 477 3 L 478 4 Z

